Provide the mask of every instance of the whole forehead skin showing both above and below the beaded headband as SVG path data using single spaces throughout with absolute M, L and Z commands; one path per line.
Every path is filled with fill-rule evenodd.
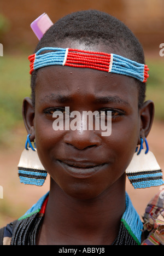
M 89 51 L 102 51 L 126 56 L 121 48 L 113 49 L 99 41 L 97 44 L 87 45 L 80 40 L 65 39 L 55 45 L 61 48 L 74 48 Z M 36 79 L 36 100 L 48 98 L 50 95 L 69 96 L 72 100 L 91 101 L 95 97 L 116 96 L 138 106 L 138 90 L 136 80 L 120 74 L 96 71 L 90 68 L 72 68 L 63 66 L 49 66 L 40 68 Z

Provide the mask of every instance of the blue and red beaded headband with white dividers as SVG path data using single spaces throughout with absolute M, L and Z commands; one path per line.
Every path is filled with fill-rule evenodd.
M 30 60 L 30 74 L 38 68 L 61 65 L 128 75 L 143 83 L 147 82 L 149 77 L 147 65 L 126 59 L 120 55 L 97 51 L 44 47 L 36 54 L 30 55 L 28 59 Z

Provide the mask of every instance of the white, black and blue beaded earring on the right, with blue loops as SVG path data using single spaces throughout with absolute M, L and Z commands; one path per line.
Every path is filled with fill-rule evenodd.
M 146 149 L 143 148 L 143 138 L 140 138 L 140 147 L 136 148 L 130 165 L 126 169 L 126 175 L 134 189 L 160 186 L 162 180 L 162 170 L 156 158 L 149 150 L 147 139 L 145 138 Z

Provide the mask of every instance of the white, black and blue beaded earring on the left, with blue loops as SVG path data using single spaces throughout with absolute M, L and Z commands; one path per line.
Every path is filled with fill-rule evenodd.
M 21 183 L 42 186 L 45 182 L 47 172 L 39 160 L 36 147 L 32 146 L 30 134 L 27 136 L 25 149 L 17 167 Z

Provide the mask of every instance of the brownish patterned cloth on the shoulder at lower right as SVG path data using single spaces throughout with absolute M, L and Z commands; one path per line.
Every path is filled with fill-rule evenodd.
M 143 220 L 143 231 L 148 235 L 142 245 L 164 245 L 164 190 L 150 200 Z

